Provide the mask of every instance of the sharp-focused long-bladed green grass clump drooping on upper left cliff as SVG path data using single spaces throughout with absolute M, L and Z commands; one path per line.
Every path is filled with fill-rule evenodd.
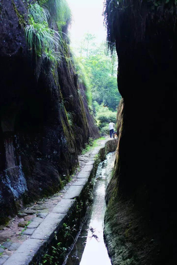
M 49 12 L 45 7 L 41 7 L 37 2 L 28 6 L 29 19 L 25 28 L 25 37 L 28 48 L 32 52 L 34 50 L 36 58 L 42 53 L 49 60 L 58 64 L 61 55 L 58 52 L 61 48 L 61 35 L 49 28 L 48 20 Z

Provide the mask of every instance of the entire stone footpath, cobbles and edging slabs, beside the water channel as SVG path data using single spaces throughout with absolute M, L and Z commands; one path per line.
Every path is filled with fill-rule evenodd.
M 62 191 L 24 210 L 27 215 L 24 219 L 30 219 L 31 223 L 21 235 L 20 240 L 15 238 L 19 234 L 15 236 L 9 234 L 11 240 L 0 246 L 0 253 L 2 253 L 0 265 L 32 264 L 40 257 L 44 249 L 47 249 L 48 244 L 54 239 L 55 233 L 58 233 L 71 212 L 76 209 L 77 198 L 84 194 L 88 181 L 96 173 L 93 172 L 96 155 L 104 160 L 106 152 L 116 150 L 118 140 L 107 138 L 98 140 L 97 143 L 97 147 L 78 157 L 81 170 L 72 176 L 71 182 Z M 24 220 L 22 217 L 16 218 L 18 221 Z M 16 222 L 16 226 L 17 224 L 18 222 Z

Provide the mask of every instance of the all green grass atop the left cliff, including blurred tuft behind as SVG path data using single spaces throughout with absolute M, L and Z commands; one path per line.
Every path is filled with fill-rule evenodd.
M 70 8 L 65 0 L 41 0 L 31 2 L 28 12 L 25 37 L 29 51 L 34 51 L 36 58 L 44 55 L 57 65 L 61 60 L 62 29 L 71 21 Z M 53 20 L 59 32 L 49 27 Z

